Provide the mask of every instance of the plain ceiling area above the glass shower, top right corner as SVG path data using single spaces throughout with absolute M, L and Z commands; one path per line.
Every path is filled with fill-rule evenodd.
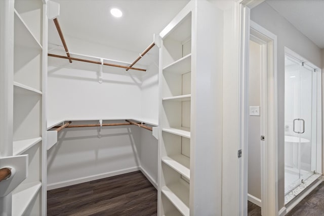
M 324 48 L 324 0 L 266 0 L 319 48 Z

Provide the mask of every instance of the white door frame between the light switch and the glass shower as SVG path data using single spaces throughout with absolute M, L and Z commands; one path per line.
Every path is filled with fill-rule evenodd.
M 261 107 L 263 107 L 264 115 L 261 119 L 261 133 L 266 140 L 261 142 L 261 199 L 263 200 L 261 211 L 262 215 L 277 215 L 277 37 L 262 26 L 250 21 L 250 39 L 257 42 L 262 48 Z M 249 60 L 246 61 L 248 64 Z M 248 82 L 244 86 L 248 88 Z M 247 100 L 244 103 L 245 106 L 248 106 Z M 248 148 L 247 144 L 245 146 Z

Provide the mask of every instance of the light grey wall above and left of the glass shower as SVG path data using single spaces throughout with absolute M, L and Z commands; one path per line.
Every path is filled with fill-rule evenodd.
M 284 207 L 284 111 L 285 111 L 285 47 L 308 61 L 321 66 L 321 50 L 266 2 L 251 10 L 251 20 L 277 35 L 278 85 L 278 205 Z

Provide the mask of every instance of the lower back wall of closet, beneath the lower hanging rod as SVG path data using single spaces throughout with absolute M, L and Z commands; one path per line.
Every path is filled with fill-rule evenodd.
M 48 189 L 137 170 L 139 131 L 134 125 L 103 127 L 98 138 L 97 127 L 63 129 L 48 151 Z

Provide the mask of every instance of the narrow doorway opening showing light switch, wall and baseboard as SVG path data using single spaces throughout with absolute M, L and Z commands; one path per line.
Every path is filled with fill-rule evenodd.
M 264 69 L 263 44 L 255 36 L 250 37 L 249 59 L 249 135 L 248 135 L 248 201 L 261 207 L 261 73 Z M 263 118 L 264 120 L 264 118 Z M 248 204 L 248 206 L 251 203 Z M 252 205 L 253 206 L 253 205 Z M 254 208 L 255 209 L 255 208 Z M 250 212 L 250 209 L 249 209 Z M 261 212 L 260 212 L 261 213 Z

